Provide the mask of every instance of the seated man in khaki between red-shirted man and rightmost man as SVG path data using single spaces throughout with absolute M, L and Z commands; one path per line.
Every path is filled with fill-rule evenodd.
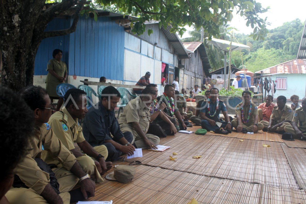
M 278 96 L 276 99 L 277 106 L 274 106 L 270 122 L 260 121 L 264 125 L 264 131 L 284 133 L 284 127 L 290 125 L 293 118 L 293 111 L 290 106 L 286 105 L 287 98 Z

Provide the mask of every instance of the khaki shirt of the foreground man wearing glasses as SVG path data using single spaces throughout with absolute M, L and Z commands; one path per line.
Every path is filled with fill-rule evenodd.
M 76 158 L 55 136 L 49 124 L 44 123 L 35 128 L 33 134 L 29 153 L 16 166 L 14 172 L 24 184 L 40 195 L 50 181 L 49 174 L 41 170 L 34 160 L 41 158 L 42 150 L 48 150 L 52 158 L 57 159 L 67 170 L 71 169 Z

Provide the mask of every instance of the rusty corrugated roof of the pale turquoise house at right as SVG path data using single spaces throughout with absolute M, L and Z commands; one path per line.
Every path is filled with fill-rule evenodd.
M 294 59 L 282 64 L 260 70 L 263 74 L 306 74 L 306 59 Z

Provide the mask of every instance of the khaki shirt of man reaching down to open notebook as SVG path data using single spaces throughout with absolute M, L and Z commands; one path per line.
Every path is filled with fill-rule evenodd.
M 123 114 L 119 117 L 118 122 L 122 132 L 133 130 L 133 135 L 138 135 L 132 127 L 132 122 L 138 122 L 141 129 L 146 134 L 149 129 L 151 120 L 150 109 L 147 108 L 140 97 L 132 99 L 123 109 Z

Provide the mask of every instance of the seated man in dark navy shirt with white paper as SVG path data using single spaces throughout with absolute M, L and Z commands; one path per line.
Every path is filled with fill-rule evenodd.
M 132 145 L 132 133 L 122 133 L 115 117 L 114 109 L 119 99 L 120 93 L 115 87 L 104 88 L 101 92 L 101 101 L 92 106 L 84 118 L 83 134 L 86 141 L 97 151 L 101 146 L 106 146 L 106 161 L 116 161 L 123 154 L 132 155 L 135 150 Z

